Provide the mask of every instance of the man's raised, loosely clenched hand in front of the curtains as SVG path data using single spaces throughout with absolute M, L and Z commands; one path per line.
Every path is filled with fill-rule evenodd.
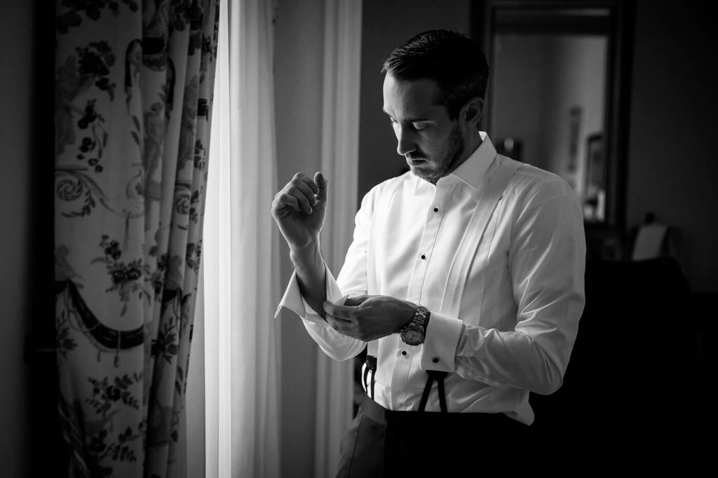
M 314 180 L 294 174 L 271 203 L 271 215 L 292 250 L 319 243 L 326 212 L 327 179 L 321 172 L 314 174 Z

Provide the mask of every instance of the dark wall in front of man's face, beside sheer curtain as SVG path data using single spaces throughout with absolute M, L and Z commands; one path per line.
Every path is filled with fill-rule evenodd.
M 404 172 L 396 137 L 381 110 L 381 65 L 395 47 L 428 29 L 470 33 L 469 0 L 364 0 L 359 118 L 359 200 L 378 182 Z

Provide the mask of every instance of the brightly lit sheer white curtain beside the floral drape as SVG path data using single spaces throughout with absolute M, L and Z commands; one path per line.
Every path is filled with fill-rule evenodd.
M 278 477 L 274 2 L 223 2 L 205 213 L 207 477 Z

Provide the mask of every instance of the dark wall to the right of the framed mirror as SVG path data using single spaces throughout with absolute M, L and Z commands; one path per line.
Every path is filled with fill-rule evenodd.
M 696 292 L 718 291 L 718 90 L 712 16 L 698 2 L 639 0 L 628 150 L 627 222 L 648 211 L 680 233 Z

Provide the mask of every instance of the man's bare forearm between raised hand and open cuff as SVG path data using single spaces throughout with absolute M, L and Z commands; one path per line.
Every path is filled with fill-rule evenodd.
M 294 270 L 297 271 L 299 291 L 307 304 L 325 318 L 324 301 L 327 300 L 327 268 L 322 259 L 319 243 L 289 251 Z

